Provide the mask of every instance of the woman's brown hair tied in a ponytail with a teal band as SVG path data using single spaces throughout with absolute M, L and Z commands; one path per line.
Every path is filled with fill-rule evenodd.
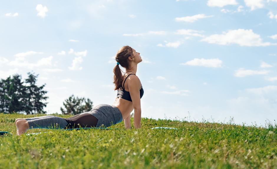
M 116 53 L 116 61 L 123 68 L 129 68 L 129 56 L 133 58 L 133 50 L 130 46 L 121 47 Z M 120 69 L 119 65 L 113 68 L 113 84 L 115 85 L 114 90 L 118 90 L 121 87 L 122 81 L 124 79 L 123 71 Z

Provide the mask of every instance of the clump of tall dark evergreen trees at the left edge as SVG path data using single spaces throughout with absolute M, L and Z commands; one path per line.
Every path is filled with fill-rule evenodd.
M 29 76 L 24 82 L 21 81 L 21 75 L 15 74 L 7 79 L 0 81 L 0 112 L 26 112 L 45 113 L 43 107 L 47 103 L 42 103 L 48 97 L 45 96 L 47 91 L 44 91 L 45 86 L 36 86 L 37 76 L 34 73 L 27 73 Z

